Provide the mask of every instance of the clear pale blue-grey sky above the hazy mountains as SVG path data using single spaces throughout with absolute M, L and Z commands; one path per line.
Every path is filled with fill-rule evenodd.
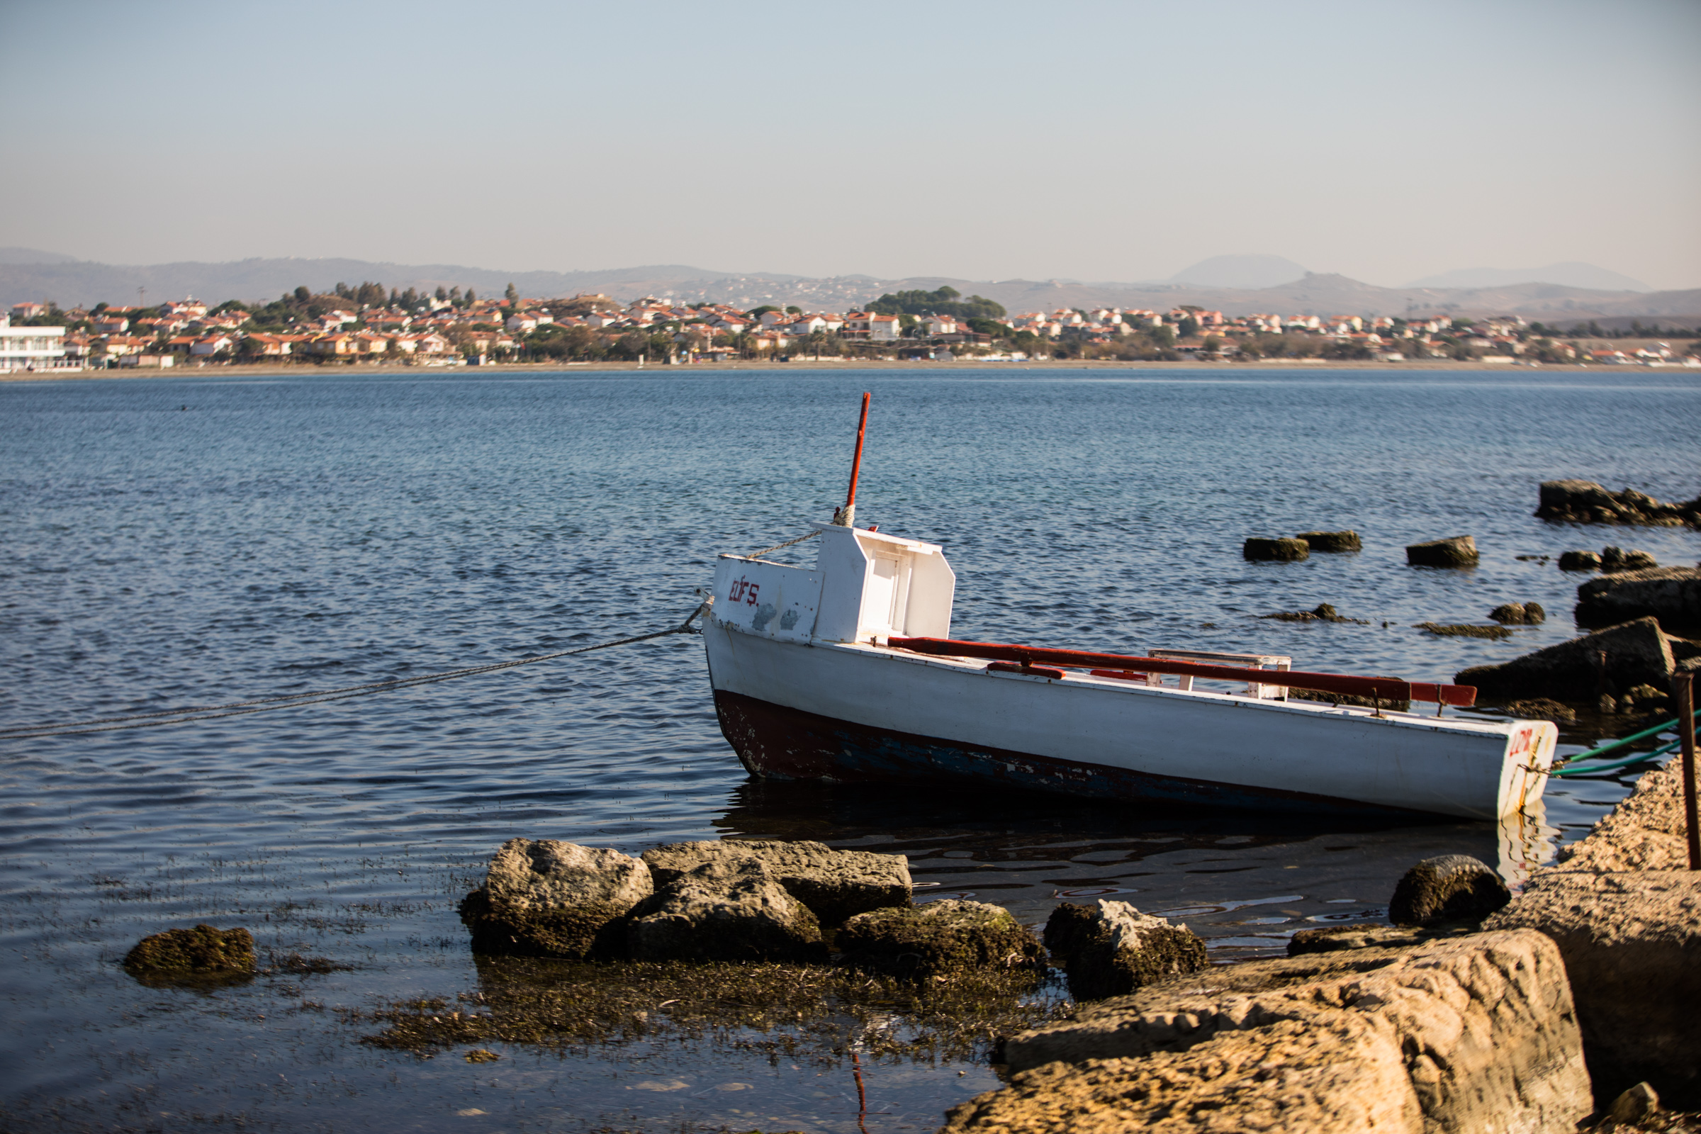
M 1701 2 L 5 0 L 0 245 L 1701 286 Z

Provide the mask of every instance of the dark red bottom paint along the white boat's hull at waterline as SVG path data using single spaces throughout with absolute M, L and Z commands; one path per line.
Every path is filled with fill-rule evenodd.
M 981 748 L 937 736 L 893 733 L 726 690 L 714 690 L 714 712 L 721 734 L 745 768 L 754 775 L 782 780 L 973 784 L 1078 799 L 1262 809 L 1279 806 L 1402 818 L 1424 814 L 1351 799 L 1152 775 L 1102 763 Z

